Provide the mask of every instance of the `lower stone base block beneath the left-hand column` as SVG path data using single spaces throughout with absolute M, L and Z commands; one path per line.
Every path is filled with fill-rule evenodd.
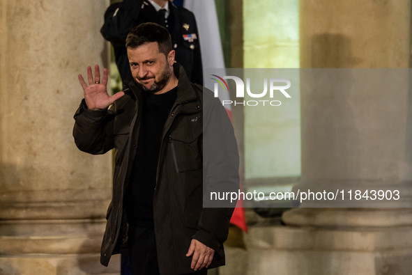
M 0 274 L 120 274 L 120 256 L 100 265 L 105 219 L 0 223 Z

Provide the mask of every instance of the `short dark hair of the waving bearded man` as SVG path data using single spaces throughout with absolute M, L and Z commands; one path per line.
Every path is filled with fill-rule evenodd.
M 139 24 L 130 31 L 126 38 L 126 48 L 136 49 L 150 42 L 158 42 L 159 52 L 165 56 L 172 50 L 169 31 L 165 27 L 151 22 Z

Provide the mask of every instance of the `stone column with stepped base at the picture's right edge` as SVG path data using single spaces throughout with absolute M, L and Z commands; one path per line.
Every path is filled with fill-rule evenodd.
M 410 57 L 411 1 L 300 1 L 302 68 L 409 68 Z M 360 71 L 305 82 L 316 74 L 307 70 L 301 71 L 302 176 L 296 189 L 399 189 L 403 200 L 386 208 L 369 201 L 370 208 L 287 211 L 287 226 L 251 232 L 249 273 L 411 274 L 409 70 L 388 71 L 398 83 L 375 79 L 378 85 L 364 89 L 359 75 L 351 76 Z M 333 81 L 345 89 L 334 91 Z

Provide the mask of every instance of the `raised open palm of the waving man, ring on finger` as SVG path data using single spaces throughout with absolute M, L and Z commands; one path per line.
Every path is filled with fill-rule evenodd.
M 84 81 L 82 74 L 79 74 L 80 85 L 84 91 L 84 100 L 87 108 L 93 111 L 107 109 L 113 102 L 122 97 L 125 93 L 119 92 L 112 96 L 107 93 L 107 69 L 103 69 L 102 83 L 100 84 L 100 68 L 99 65 L 94 67 L 94 79 L 91 67 L 87 67 L 87 80 L 89 86 Z

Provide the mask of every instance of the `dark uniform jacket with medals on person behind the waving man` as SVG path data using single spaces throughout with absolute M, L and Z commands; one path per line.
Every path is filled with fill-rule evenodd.
M 172 45 L 176 51 L 176 61 L 183 65 L 190 81 L 203 84 L 199 33 L 193 13 L 182 7 L 176 7 L 169 2 L 169 32 Z M 132 80 L 125 40 L 128 33 L 146 22 L 154 22 L 165 26 L 165 20 L 160 18 L 155 8 L 148 1 L 124 0 L 107 8 L 105 24 L 100 32 L 112 42 L 117 68 L 123 83 Z M 166 27 L 166 26 L 165 26 Z M 190 37 L 189 37 L 190 36 Z M 194 36 L 196 38 L 194 38 Z

